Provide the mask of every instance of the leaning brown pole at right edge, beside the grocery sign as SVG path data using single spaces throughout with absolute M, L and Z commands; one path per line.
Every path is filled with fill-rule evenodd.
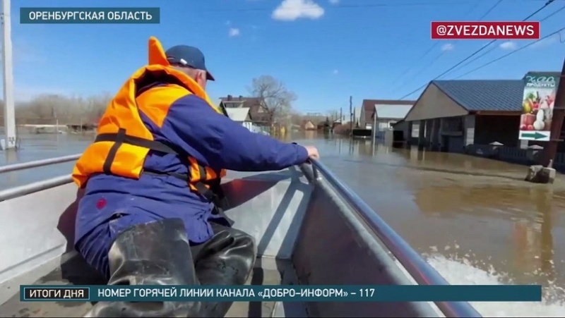
M 559 84 L 557 85 L 557 92 L 555 92 L 555 102 L 553 107 L 552 126 L 549 128 L 551 131 L 547 147 L 544 147 L 542 166 L 552 168 L 552 162 L 557 153 L 557 145 L 561 140 L 561 127 L 563 126 L 563 118 L 565 116 L 565 60 L 561 68 L 561 75 L 559 76 Z

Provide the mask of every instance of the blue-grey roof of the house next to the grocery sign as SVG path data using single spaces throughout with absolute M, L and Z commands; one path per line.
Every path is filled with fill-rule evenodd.
M 467 111 L 521 111 L 523 80 L 432 80 Z

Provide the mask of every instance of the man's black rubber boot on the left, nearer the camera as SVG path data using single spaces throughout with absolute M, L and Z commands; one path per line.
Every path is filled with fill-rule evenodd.
M 198 285 L 181 219 L 127 229 L 108 258 L 108 285 Z M 98 302 L 84 317 L 200 317 L 200 307 L 200 302 Z

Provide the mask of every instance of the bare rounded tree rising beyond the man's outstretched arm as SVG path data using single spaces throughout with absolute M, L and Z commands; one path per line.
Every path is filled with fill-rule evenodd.
M 270 125 L 289 120 L 292 102 L 297 96 L 288 90 L 283 82 L 270 75 L 261 75 L 251 81 L 249 91 L 263 102 L 263 109 L 268 114 L 266 119 Z

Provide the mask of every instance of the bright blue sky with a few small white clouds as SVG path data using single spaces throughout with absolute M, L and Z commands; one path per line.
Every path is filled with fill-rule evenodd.
M 216 81 L 210 97 L 246 95 L 251 79 L 273 75 L 294 91 L 299 111 L 354 106 L 362 99 L 398 99 L 443 73 L 488 41 L 436 44 L 432 20 L 477 20 L 495 0 L 136 0 L 161 8 L 159 25 L 25 25 L 19 8 L 132 6 L 119 0 L 12 1 L 16 97 L 56 93 L 114 94 L 147 59 L 155 35 L 165 49 L 199 47 Z M 522 20 L 544 0 L 504 0 L 483 20 Z M 280 6 L 285 11 L 276 11 Z M 530 20 L 565 6 L 557 0 Z M 277 13 L 278 12 L 278 13 Z M 542 36 L 564 27 L 565 10 L 542 22 Z M 565 32 L 561 34 L 565 41 Z M 559 37 L 516 52 L 463 79 L 521 78 L 528 71 L 559 71 Z M 441 79 L 453 79 L 527 40 L 498 41 L 492 51 Z M 494 47 L 496 46 L 496 47 Z M 440 55 L 441 54 L 441 55 Z M 430 64 L 431 62 L 434 62 Z M 414 66 L 416 64 L 416 66 Z M 410 66 L 414 66 L 407 71 Z M 418 94 L 413 94 L 417 99 Z

